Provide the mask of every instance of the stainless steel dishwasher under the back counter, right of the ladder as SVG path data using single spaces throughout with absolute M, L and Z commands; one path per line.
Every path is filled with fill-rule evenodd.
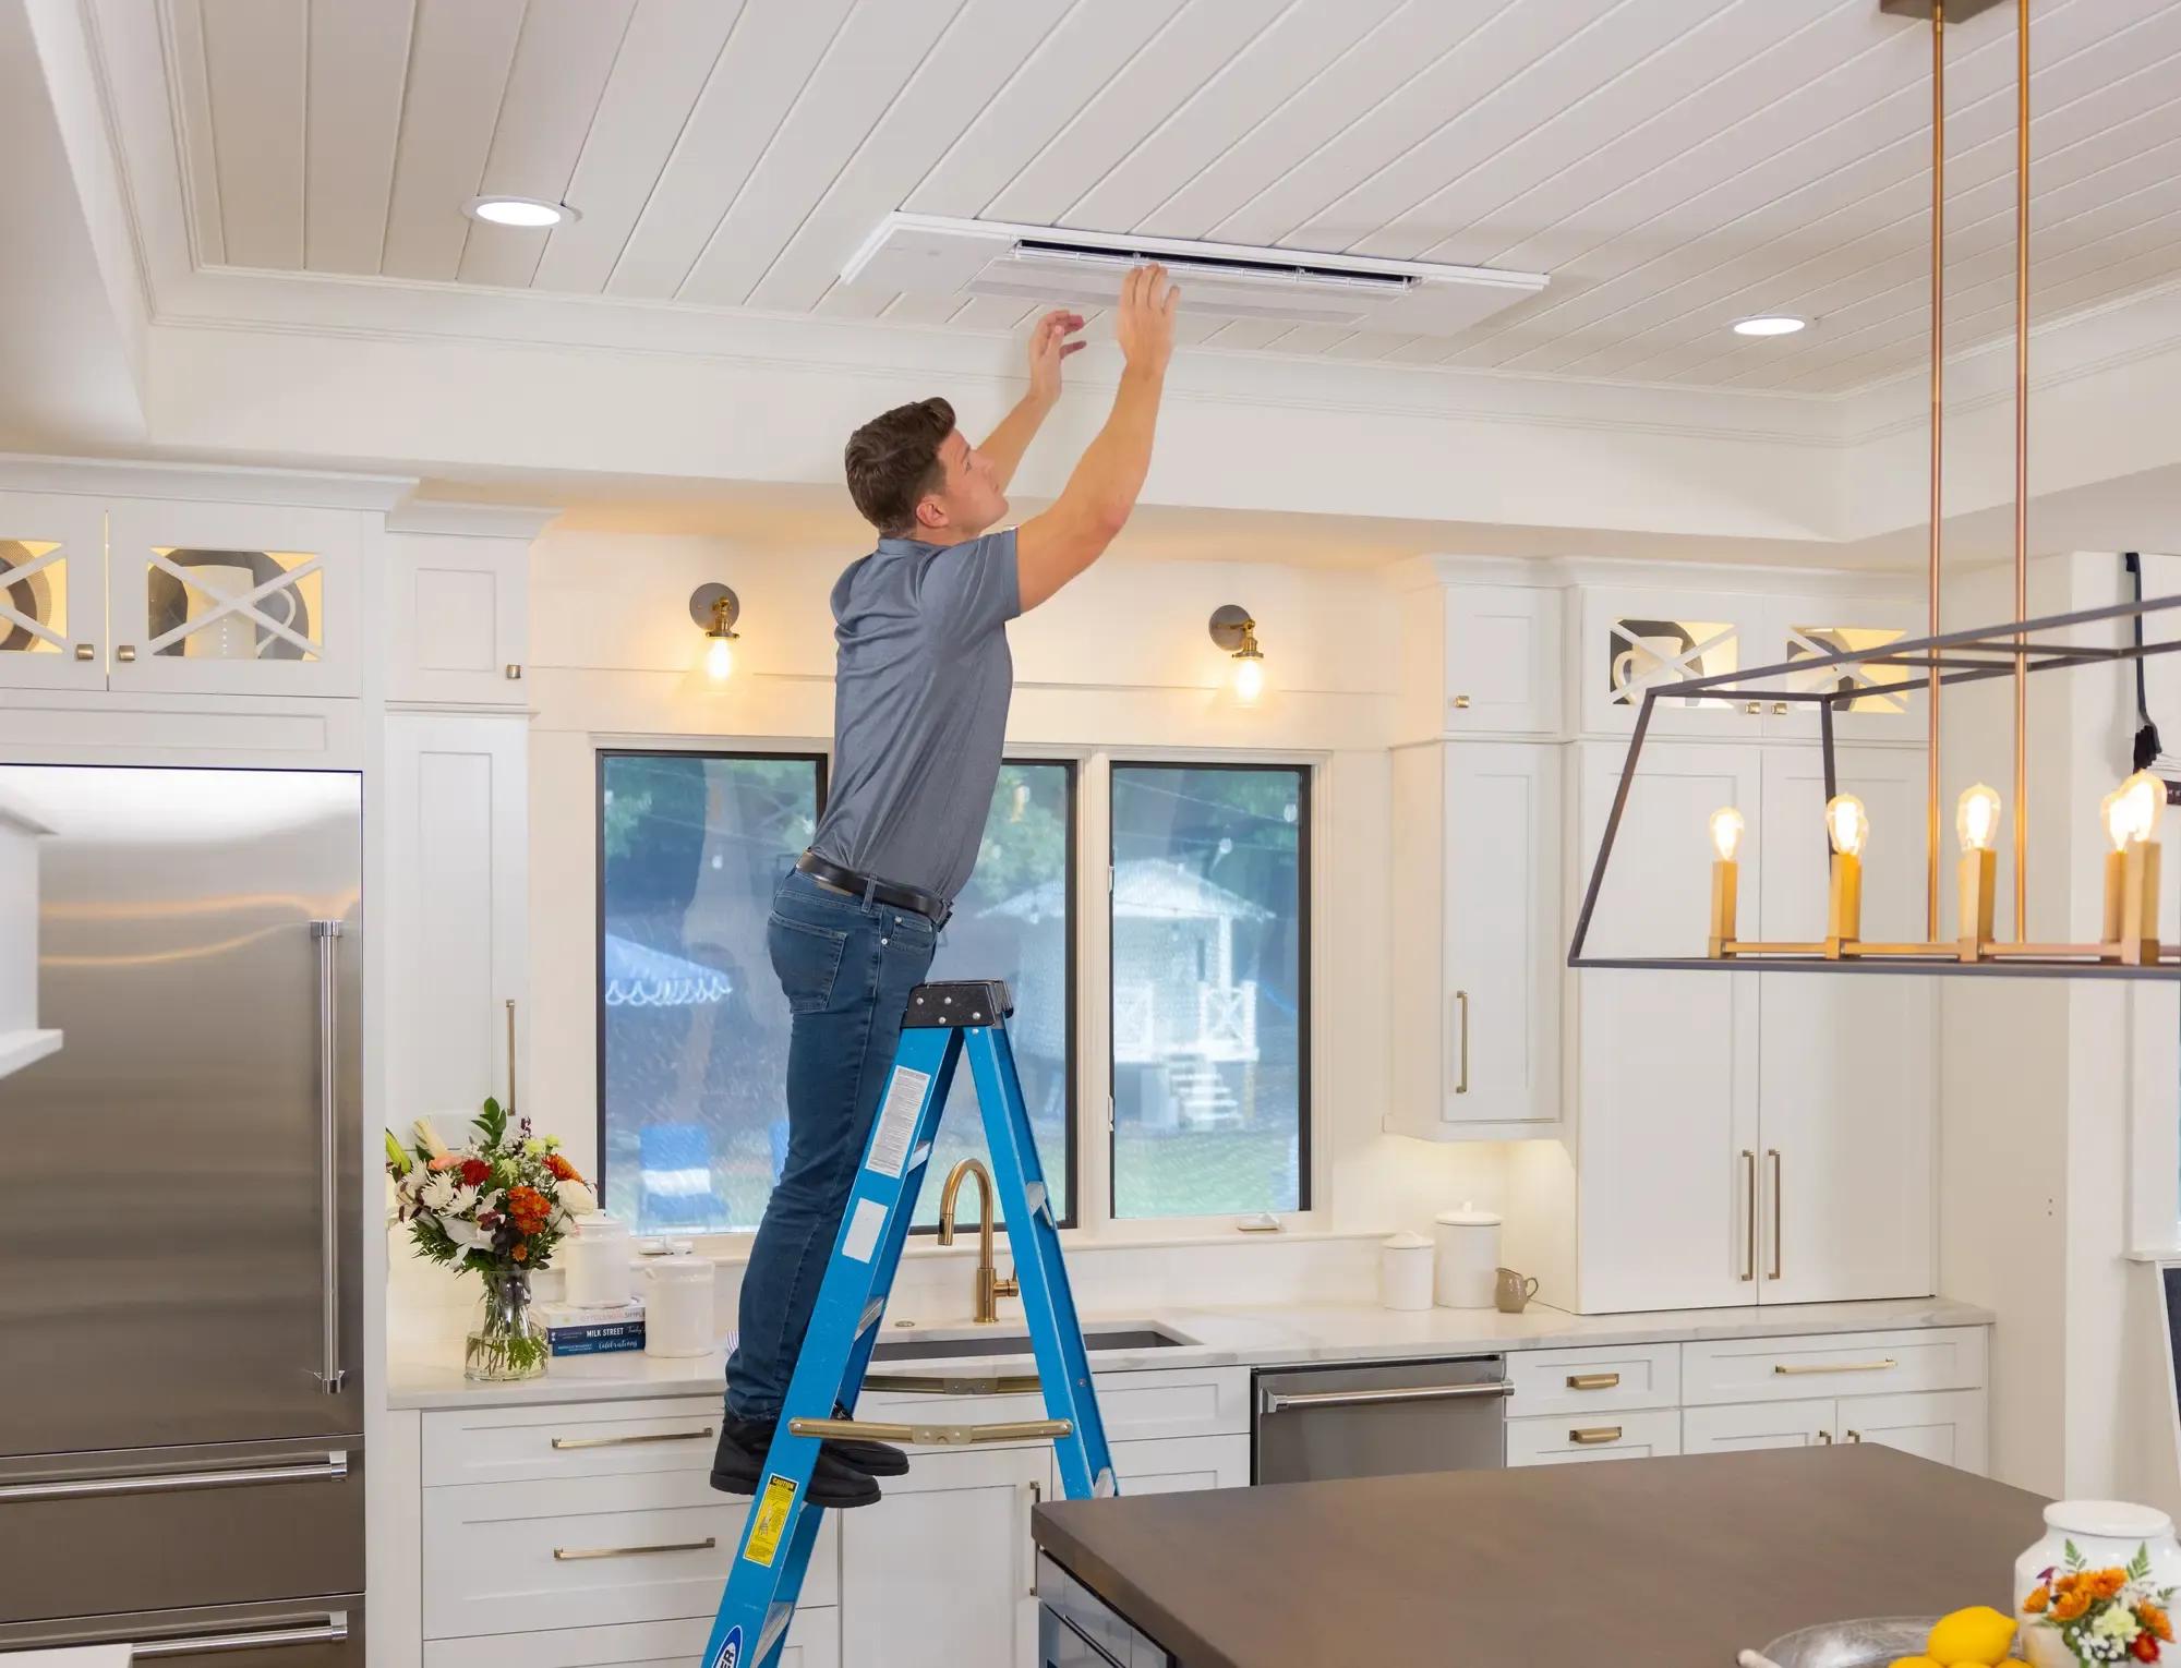
M 1496 1472 L 1511 1391 L 1505 1356 L 1258 1371 L 1252 1480 Z

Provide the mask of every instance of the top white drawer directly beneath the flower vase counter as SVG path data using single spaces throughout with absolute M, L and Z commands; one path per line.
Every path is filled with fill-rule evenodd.
M 495 1406 L 423 1415 L 423 1483 L 532 1483 L 558 1476 L 711 1470 L 720 1398 Z

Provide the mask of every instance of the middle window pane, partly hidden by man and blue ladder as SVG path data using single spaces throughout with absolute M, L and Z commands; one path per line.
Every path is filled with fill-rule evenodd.
M 1016 759 L 999 770 L 977 872 L 955 898 L 931 979 L 1005 979 L 1008 1038 L 1053 1221 L 1075 1225 L 1075 767 Z M 940 1184 L 962 1158 L 990 1169 L 968 1062 L 955 1073 L 916 1225 L 936 1228 Z M 964 1193 L 968 1210 L 973 1195 Z

